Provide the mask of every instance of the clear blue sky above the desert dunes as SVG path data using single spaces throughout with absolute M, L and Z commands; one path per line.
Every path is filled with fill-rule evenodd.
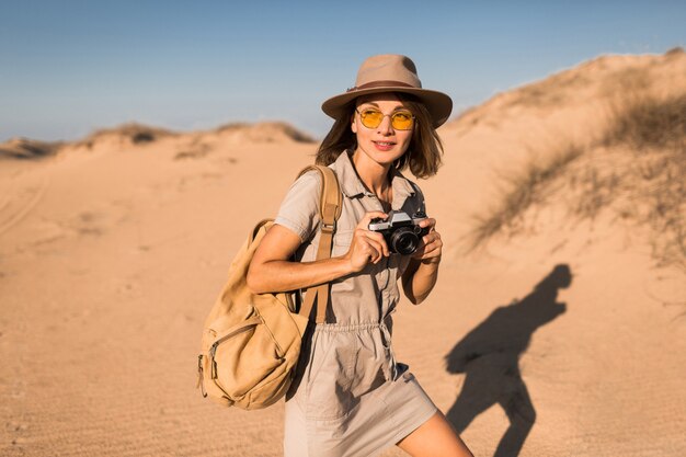
M 0 0 L 0 141 L 130 121 L 321 137 L 321 102 L 369 55 L 410 56 L 455 114 L 603 54 L 685 45 L 683 0 Z

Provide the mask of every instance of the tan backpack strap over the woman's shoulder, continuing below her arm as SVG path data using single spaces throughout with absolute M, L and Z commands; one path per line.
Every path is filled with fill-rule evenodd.
M 317 249 L 317 260 L 331 258 L 331 244 L 333 243 L 333 233 L 335 232 L 335 221 L 341 216 L 343 207 L 343 196 L 339 187 L 339 180 L 335 172 L 329 167 L 309 165 L 302 169 L 298 178 L 309 171 L 318 171 L 321 175 L 321 188 L 319 198 L 319 217 L 321 219 L 321 236 L 319 238 L 319 247 Z M 329 305 L 329 283 L 320 284 L 317 287 L 308 289 L 305 302 L 298 312 L 301 316 L 309 317 L 317 297 L 317 323 L 323 323 L 327 320 L 327 306 Z

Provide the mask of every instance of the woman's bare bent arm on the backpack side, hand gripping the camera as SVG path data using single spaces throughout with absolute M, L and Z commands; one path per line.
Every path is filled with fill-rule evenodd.
M 375 217 L 386 217 L 386 214 L 367 213 L 344 255 L 315 262 L 289 261 L 300 245 L 300 238 L 286 227 L 272 226 L 250 263 L 248 287 L 255 294 L 296 290 L 359 272 L 368 263 L 378 263 L 388 256 L 388 248 L 381 233 L 367 230 Z

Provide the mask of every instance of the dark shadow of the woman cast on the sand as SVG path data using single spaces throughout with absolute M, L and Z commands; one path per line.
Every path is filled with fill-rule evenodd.
M 510 427 L 494 457 L 516 457 L 534 426 L 536 410 L 519 373 L 519 356 L 536 329 L 565 311 L 567 305 L 556 299 L 558 289 L 571 283 L 569 265 L 557 265 L 529 295 L 495 309 L 446 356 L 448 373 L 466 375 L 462 390 L 446 413 L 458 433 L 495 403 L 507 414 Z

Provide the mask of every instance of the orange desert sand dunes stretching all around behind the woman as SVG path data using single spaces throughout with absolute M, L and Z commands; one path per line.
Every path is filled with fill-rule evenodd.
M 686 274 L 654 252 L 678 245 L 684 206 L 663 197 L 686 134 L 678 115 L 622 133 L 636 104 L 616 98 L 678 113 L 685 76 L 678 52 L 603 57 L 441 129 L 445 164 L 419 182 L 441 277 L 401 301 L 393 344 L 476 455 L 686 455 Z M 221 409 L 195 366 L 232 253 L 317 144 L 121 129 L 0 161 L 0 455 L 279 456 L 283 404 Z M 667 220 L 654 202 L 663 236 L 638 217 Z

